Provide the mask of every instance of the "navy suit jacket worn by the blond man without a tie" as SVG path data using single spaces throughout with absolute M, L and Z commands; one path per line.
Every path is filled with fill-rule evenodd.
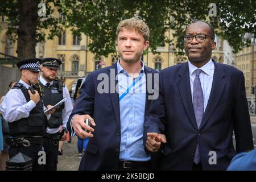
M 110 76 L 110 69 L 115 70 L 114 76 L 116 76 L 116 64 L 89 73 L 84 84 L 81 86 L 81 96 L 69 117 L 68 127 L 70 126 L 71 118 L 75 114 L 89 114 L 96 123 L 93 133 L 94 137 L 89 140 L 86 154 L 81 160 L 79 170 L 118 169 L 119 147 L 122 135 L 120 129 L 119 94 L 116 92 L 97 92 L 97 86 L 102 82 L 102 80 L 97 80 L 97 76 L 100 73 L 105 73 L 112 79 L 113 82 L 109 81 L 109 91 L 110 84 L 114 84 L 114 86 L 118 84 L 118 80 L 114 81 Z M 148 73 L 158 73 L 148 67 L 144 67 L 144 72 L 147 77 Z M 154 80 L 154 74 L 151 78 Z M 151 100 L 148 100 L 148 93 L 146 93 L 145 115 L 148 114 L 150 102 Z

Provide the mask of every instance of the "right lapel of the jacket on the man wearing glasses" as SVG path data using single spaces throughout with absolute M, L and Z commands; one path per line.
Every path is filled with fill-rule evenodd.
M 213 63 L 214 63 L 214 75 L 213 75 L 213 81 L 212 81 L 212 89 L 210 90 L 210 97 L 204 112 L 204 117 L 202 119 L 200 129 L 205 125 L 210 115 L 213 113 L 214 109 L 216 108 L 226 84 L 225 80 L 223 79 L 223 77 L 225 76 L 225 73 L 220 67 L 220 64 L 216 63 L 214 60 L 213 60 Z

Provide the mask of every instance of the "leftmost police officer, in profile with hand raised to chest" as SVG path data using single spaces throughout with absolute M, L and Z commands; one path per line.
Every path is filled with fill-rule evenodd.
M 48 125 L 50 114 L 44 114 L 45 107 L 40 98 L 38 81 L 41 59 L 26 59 L 19 61 L 17 66 L 22 76 L 13 89 L 3 100 L 0 111 L 3 118 L 9 122 L 10 137 L 6 143 L 10 145 L 9 156 L 22 152 L 32 158 L 32 170 L 43 170 L 43 165 L 38 163 L 42 151 L 43 136 Z M 47 108 L 51 107 L 48 105 Z

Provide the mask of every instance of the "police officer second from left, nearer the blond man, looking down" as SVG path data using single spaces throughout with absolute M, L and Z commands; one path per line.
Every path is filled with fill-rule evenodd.
M 69 115 L 73 109 L 72 101 L 69 96 L 67 86 L 62 81 L 57 81 L 57 69 L 59 69 L 61 61 L 55 58 L 44 58 L 41 65 L 42 75 L 39 77 L 40 84 L 44 89 L 43 101 L 45 105 L 55 105 L 59 101 L 66 98 L 63 105 L 60 105 L 55 113 L 51 114 L 49 119 L 49 127 L 47 127 L 46 138 L 44 139 L 44 150 L 46 151 L 47 171 L 57 170 L 57 156 L 59 148 L 59 140 L 66 139 L 66 133 L 60 136 L 60 131 L 65 129 Z M 60 138 L 61 137 L 61 138 Z

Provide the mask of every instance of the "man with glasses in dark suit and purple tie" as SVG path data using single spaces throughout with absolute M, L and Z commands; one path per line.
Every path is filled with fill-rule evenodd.
M 216 43 L 206 22 L 187 27 L 184 46 L 188 62 L 160 72 L 144 145 L 162 151 L 164 170 L 226 170 L 236 152 L 253 149 L 243 73 L 211 58 Z

